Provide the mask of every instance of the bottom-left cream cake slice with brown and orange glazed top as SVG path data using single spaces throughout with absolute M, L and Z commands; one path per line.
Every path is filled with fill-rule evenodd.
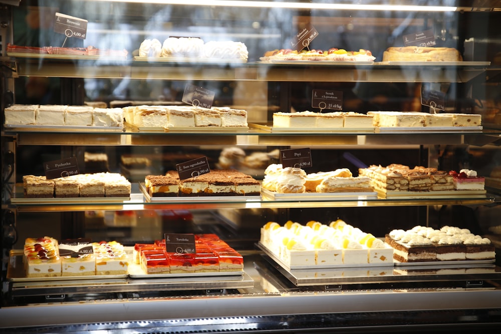
M 54 238 L 27 238 L 23 261 L 26 277 L 61 276 L 58 241 Z

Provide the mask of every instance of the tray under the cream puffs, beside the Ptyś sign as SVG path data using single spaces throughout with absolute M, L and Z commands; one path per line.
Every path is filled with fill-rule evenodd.
M 346 200 L 346 199 L 377 199 L 377 192 L 305 192 L 295 194 L 282 194 L 261 188 L 261 193 L 272 200 Z

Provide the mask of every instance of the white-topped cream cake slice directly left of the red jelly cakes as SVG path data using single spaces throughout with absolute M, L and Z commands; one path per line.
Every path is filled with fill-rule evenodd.
M 122 244 L 116 241 L 92 243 L 96 256 L 96 275 L 127 274 L 129 258 Z

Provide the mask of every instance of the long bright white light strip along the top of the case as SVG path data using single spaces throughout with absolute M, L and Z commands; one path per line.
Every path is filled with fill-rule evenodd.
M 357 5 L 357 4 L 312 4 L 276 1 L 238 1 L 238 0 L 94 0 L 105 2 L 138 3 L 154 5 L 183 5 L 209 7 L 247 7 L 247 8 L 289 8 L 302 10 L 362 10 L 362 11 L 405 11 L 405 12 L 455 12 L 457 7 L 442 6 L 400 6 L 400 5 Z

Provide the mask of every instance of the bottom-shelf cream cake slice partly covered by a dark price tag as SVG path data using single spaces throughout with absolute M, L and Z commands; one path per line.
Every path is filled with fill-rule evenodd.
M 96 257 L 91 239 L 66 239 L 59 243 L 62 276 L 90 276 L 96 274 Z

